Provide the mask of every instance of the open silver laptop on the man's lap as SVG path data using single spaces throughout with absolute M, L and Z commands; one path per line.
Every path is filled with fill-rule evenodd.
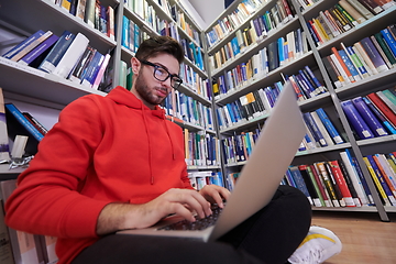
M 296 94 L 288 81 L 213 226 L 204 230 L 164 230 L 165 226 L 182 220 L 180 217 L 170 216 L 153 227 L 122 230 L 118 234 L 179 237 L 204 242 L 217 240 L 272 200 L 305 133 L 306 127 Z

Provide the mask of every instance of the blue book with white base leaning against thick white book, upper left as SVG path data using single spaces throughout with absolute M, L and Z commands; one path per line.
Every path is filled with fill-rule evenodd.
M 58 63 L 61 62 L 63 55 L 66 53 L 67 48 L 72 45 L 72 42 L 76 37 L 75 34 L 68 31 L 64 31 L 59 40 L 55 43 L 54 47 L 50 51 L 48 55 L 38 66 L 38 69 L 44 70 L 51 74 Z

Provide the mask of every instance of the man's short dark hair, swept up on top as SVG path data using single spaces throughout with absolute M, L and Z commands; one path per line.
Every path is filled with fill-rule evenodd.
M 174 56 L 180 64 L 184 59 L 184 52 L 180 43 L 170 36 L 152 36 L 139 46 L 135 57 L 139 61 L 147 61 L 158 53 L 167 53 Z

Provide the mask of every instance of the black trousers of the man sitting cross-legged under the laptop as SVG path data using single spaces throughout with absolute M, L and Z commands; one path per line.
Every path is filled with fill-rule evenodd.
M 72 264 L 284 264 L 308 233 L 311 209 L 302 193 L 279 186 L 273 200 L 217 242 L 111 234 Z

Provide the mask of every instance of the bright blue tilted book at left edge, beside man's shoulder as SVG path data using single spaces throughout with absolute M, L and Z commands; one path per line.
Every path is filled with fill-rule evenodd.
M 13 103 L 6 103 L 4 107 L 6 113 L 8 113 L 7 121 L 11 123 L 12 120 L 16 120 L 18 123 L 21 124 L 24 130 L 29 132 L 29 134 L 25 134 L 23 131 L 16 131 L 16 134 L 25 134 L 28 136 L 33 136 L 36 141 L 41 141 L 44 138 L 44 135 L 23 116 L 23 113 Z

